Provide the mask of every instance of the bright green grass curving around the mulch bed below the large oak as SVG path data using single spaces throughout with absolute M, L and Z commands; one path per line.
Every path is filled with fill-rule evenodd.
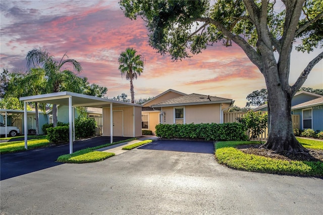
M 314 140 L 315 141 L 315 140 Z M 319 143 L 306 144 L 319 147 Z M 323 177 L 323 162 L 286 161 L 264 156 L 246 154 L 236 149 L 237 145 L 259 144 L 254 141 L 226 141 L 214 144 L 216 158 L 220 164 L 249 172 Z M 323 142 L 320 142 L 321 146 Z M 304 145 L 307 147 L 307 145 Z

